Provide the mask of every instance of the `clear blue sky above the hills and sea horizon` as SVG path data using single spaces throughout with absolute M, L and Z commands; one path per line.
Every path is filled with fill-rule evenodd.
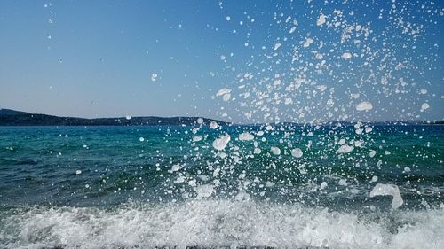
M 3 0 L 0 108 L 236 122 L 442 120 L 443 7 Z

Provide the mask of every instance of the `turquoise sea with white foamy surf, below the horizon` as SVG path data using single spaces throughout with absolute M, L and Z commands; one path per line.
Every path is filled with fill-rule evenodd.
M 443 194 L 440 125 L 0 127 L 0 248 L 444 248 Z

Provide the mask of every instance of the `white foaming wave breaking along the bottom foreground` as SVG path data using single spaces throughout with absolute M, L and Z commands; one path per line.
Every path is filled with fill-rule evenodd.
M 252 201 L 11 208 L 0 248 L 443 248 L 444 209 L 339 213 Z

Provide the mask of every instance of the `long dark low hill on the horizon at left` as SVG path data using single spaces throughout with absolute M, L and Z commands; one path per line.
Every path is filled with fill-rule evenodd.
M 135 126 L 135 125 L 192 125 L 198 117 L 118 117 L 84 119 L 75 117 L 58 117 L 46 114 L 25 113 L 11 109 L 0 109 L 0 126 Z M 227 122 L 203 118 L 209 124 L 216 121 L 219 125 Z

